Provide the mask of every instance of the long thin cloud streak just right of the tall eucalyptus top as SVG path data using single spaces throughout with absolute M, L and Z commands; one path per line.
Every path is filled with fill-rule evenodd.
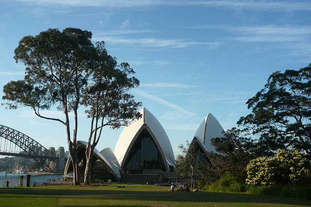
M 196 42 L 189 39 L 160 39 L 160 38 L 141 38 L 141 39 L 126 39 L 120 37 L 94 37 L 95 41 L 105 40 L 111 44 L 126 44 L 126 45 L 136 45 L 140 47 L 152 47 L 152 48 L 186 48 L 197 45 L 210 45 L 212 48 L 216 48 L 218 42 Z

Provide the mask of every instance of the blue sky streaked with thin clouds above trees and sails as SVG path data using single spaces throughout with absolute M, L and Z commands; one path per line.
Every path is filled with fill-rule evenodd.
M 225 129 L 236 127 L 273 72 L 311 62 L 310 19 L 310 0 L 0 0 L 0 96 L 4 84 L 24 77 L 13 59 L 22 37 L 49 28 L 91 31 L 94 43 L 104 40 L 110 55 L 134 68 L 140 86 L 132 93 L 177 155 L 208 113 Z M 90 121 L 84 109 L 79 114 L 78 137 L 86 141 Z M 67 148 L 65 127 L 29 108 L 0 106 L 0 124 L 47 148 Z M 114 150 L 121 130 L 105 128 L 97 149 Z

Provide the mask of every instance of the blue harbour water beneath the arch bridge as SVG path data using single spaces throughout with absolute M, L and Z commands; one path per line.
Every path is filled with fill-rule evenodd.
M 63 175 L 52 175 L 52 174 L 31 174 L 31 173 L 0 173 L 0 187 L 6 186 L 6 181 L 8 180 L 9 186 L 19 186 L 20 185 L 20 176 L 23 175 L 23 186 L 26 186 L 26 175 L 30 176 L 30 185 L 39 186 L 43 183 L 59 181 L 63 178 Z

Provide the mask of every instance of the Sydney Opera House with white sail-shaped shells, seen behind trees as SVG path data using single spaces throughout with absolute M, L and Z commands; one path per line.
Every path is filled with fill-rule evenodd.
M 173 173 L 174 153 L 164 128 L 146 108 L 142 108 L 139 112 L 142 115 L 141 118 L 132 121 L 122 130 L 114 152 L 110 148 L 105 148 L 101 152 L 94 150 L 91 180 L 121 181 L 129 178 L 133 180 L 135 177 L 141 180 L 142 175 L 145 178 L 148 175 L 148 179 L 155 179 L 163 172 Z M 209 113 L 196 130 L 190 144 L 197 143 L 199 160 L 208 161 L 204 152 L 213 150 L 210 146 L 210 139 L 222 137 L 222 131 L 223 127 Z M 78 141 L 77 152 L 81 177 L 84 177 L 86 165 L 85 151 L 86 142 Z M 65 177 L 72 175 L 70 159 L 67 161 L 64 175 Z

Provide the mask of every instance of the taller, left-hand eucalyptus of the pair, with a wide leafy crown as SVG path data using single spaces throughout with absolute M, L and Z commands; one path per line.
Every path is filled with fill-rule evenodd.
M 80 184 L 76 152 L 78 107 L 94 62 L 92 33 L 77 28 L 48 29 L 36 36 L 25 36 L 15 49 L 16 62 L 26 66 L 24 80 L 10 81 L 3 87 L 2 99 L 9 109 L 31 107 L 38 117 L 62 123 L 66 127 L 69 155 L 73 163 L 73 184 Z M 65 119 L 48 117 L 41 111 L 53 105 Z M 69 112 L 74 114 L 71 134 Z

